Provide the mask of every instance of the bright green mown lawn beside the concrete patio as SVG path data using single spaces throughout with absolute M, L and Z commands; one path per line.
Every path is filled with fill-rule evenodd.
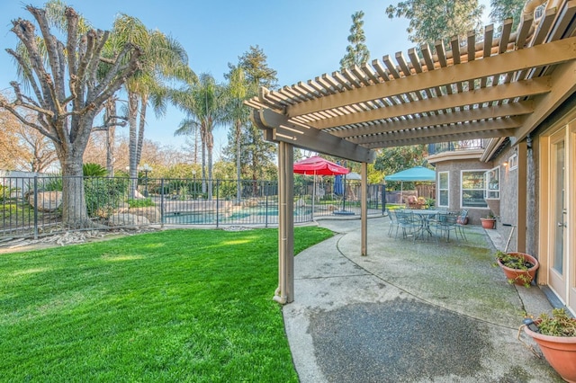
M 296 227 L 295 253 L 331 232 Z M 0 380 L 296 382 L 277 230 L 170 230 L 0 255 Z

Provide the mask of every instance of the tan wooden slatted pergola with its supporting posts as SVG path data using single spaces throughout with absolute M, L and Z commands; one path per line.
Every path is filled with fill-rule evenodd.
M 533 11 L 533 10 L 529 10 Z M 284 86 L 246 103 L 265 138 L 278 143 L 279 288 L 293 300 L 293 147 L 362 164 L 362 249 L 367 248 L 367 163 L 374 149 L 474 138 L 526 138 L 576 90 L 576 1 L 550 1 L 541 17 L 512 20 L 384 56 L 362 67 Z M 478 40 L 478 41 L 477 41 Z M 495 145 L 493 145 L 495 147 Z M 526 175 L 526 169 L 524 169 Z M 519 203 L 526 203 L 526 201 Z

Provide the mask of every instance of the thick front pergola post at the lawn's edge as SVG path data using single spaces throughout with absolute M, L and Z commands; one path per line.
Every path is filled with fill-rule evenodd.
M 294 300 L 294 198 L 293 145 L 278 143 L 278 289 L 274 300 Z

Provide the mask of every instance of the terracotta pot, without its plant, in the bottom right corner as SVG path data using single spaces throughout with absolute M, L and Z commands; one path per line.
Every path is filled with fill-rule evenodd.
M 535 322 L 538 325 L 538 321 Z M 576 336 L 550 336 L 535 333 L 527 326 L 526 334 L 540 346 L 546 361 L 560 376 L 572 383 L 576 383 Z

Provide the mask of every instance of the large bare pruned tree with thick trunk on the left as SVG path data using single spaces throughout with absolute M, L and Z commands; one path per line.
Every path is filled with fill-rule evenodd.
M 21 49 L 6 49 L 20 67 L 31 94 L 12 82 L 14 102 L 0 100 L 23 124 L 48 137 L 56 148 L 64 177 L 62 217 L 72 227 L 90 225 L 85 209 L 82 156 L 93 129 L 95 116 L 104 102 L 121 88 L 139 67 L 139 48 L 126 43 L 113 58 L 103 58 L 109 31 L 83 32 L 78 13 L 64 7 L 62 17 L 65 41 L 50 31 L 47 10 L 26 6 L 37 23 L 13 21 L 11 31 L 21 41 Z M 83 22 L 83 21 L 82 21 Z M 82 23 L 84 25 L 84 23 Z M 40 41 L 40 42 L 39 42 Z M 98 76 L 105 73 L 105 76 Z M 25 118 L 21 110 L 32 111 L 36 119 Z

